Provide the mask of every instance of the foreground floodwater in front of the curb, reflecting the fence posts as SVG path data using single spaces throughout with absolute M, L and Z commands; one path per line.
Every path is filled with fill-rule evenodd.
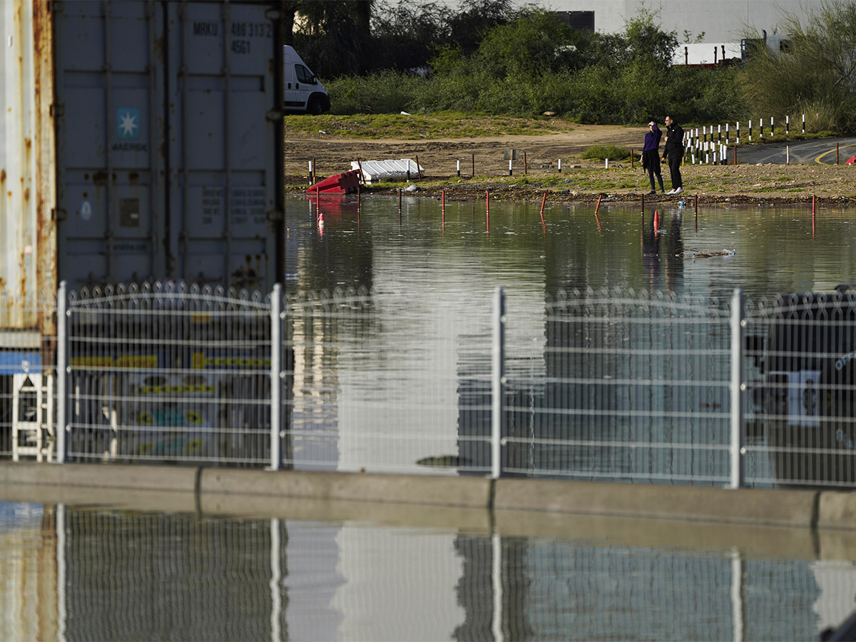
M 0 502 L 0 639 L 817 639 L 856 600 L 847 533 L 377 510 Z

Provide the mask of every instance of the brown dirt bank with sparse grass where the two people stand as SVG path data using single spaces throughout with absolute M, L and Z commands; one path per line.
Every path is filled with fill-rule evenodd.
M 639 163 L 584 161 L 580 154 L 591 145 L 616 145 L 639 152 L 646 128 L 580 125 L 559 134 L 485 137 L 438 140 L 353 140 L 289 134 L 285 140 L 285 183 L 289 192 L 302 192 L 309 185 L 309 162 L 313 161 L 318 180 L 351 169 L 351 161 L 419 158 L 425 169 L 421 180 L 410 181 L 425 196 L 444 190 L 450 199 L 481 198 L 485 189 L 509 199 L 550 199 L 589 201 L 607 195 L 612 199 L 639 199 L 650 189 Z M 515 150 L 514 174 L 508 175 L 507 150 Z M 700 201 L 804 202 L 816 197 L 820 202 L 856 202 L 856 168 L 852 165 L 812 164 L 733 164 L 693 165 L 685 159 L 682 170 L 685 194 Z M 738 157 L 740 150 L 738 151 Z M 557 161 L 562 159 L 562 174 Z M 638 156 L 637 156 L 638 158 Z M 461 161 L 462 180 L 456 175 Z M 473 178 L 473 166 L 474 175 Z M 668 191 L 669 170 L 663 166 Z M 406 183 L 377 190 L 397 190 Z M 657 199 L 669 196 L 651 197 Z

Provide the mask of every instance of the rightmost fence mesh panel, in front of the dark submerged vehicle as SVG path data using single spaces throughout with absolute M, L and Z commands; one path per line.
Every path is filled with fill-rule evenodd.
M 758 483 L 856 483 L 856 293 L 789 294 L 747 306 L 747 452 Z M 747 475 L 748 475 L 747 471 Z

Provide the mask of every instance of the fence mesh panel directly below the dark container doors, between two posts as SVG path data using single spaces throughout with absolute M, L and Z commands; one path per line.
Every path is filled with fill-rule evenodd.
M 269 461 L 269 301 L 165 283 L 69 312 L 70 459 Z

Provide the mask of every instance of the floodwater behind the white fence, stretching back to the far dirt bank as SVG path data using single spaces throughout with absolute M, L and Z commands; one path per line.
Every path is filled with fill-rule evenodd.
M 420 461 L 453 461 L 486 472 L 490 310 L 494 289 L 502 286 L 508 389 L 515 395 L 514 419 L 526 431 L 514 436 L 516 451 L 506 450 L 506 470 L 725 483 L 727 449 L 714 455 L 705 449 L 730 438 L 728 357 L 722 357 L 728 343 L 718 342 L 728 337 L 727 318 L 699 319 L 690 336 L 668 323 L 625 323 L 616 312 L 603 324 L 586 325 L 584 344 L 574 329 L 560 335 L 564 330 L 546 313 L 548 300 L 587 288 L 692 297 L 724 309 L 734 288 L 758 303 L 856 281 L 853 210 L 817 208 L 812 216 L 811 204 L 725 203 L 698 211 L 695 205 L 689 197 L 657 204 L 655 229 L 653 207 L 643 215 L 639 203 L 610 199 L 599 209 L 545 205 L 543 214 L 539 203 L 496 199 L 488 210 L 486 198 L 443 207 L 437 199 L 402 196 L 401 208 L 397 196 L 361 203 L 352 196 L 323 197 L 318 204 L 289 199 L 287 291 L 373 292 L 362 323 L 294 322 L 290 419 L 295 434 L 319 436 L 295 438 L 294 467 L 424 473 Z M 644 348 L 641 334 L 651 335 Z M 630 342 L 639 352 L 663 356 L 602 356 Z M 591 346 L 604 349 L 589 359 L 582 348 Z M 580 348 L 582 356 L 560 354 L 569 347 Z M 568 372 L 585 381 L 556 383 Z M 651 383 L 635 383 L 689 381 L 688 373 L 695 377 L 691 385 L 654 390 Z M 607 389 L 604 381 L 631 383 Z M 569 410 L 580 412 L 571 416 Z M 661 419 L 667 410 L 673 417 Z M 607 438 L 642 445 L 681 441 L 687 448 L 661 456 L 663 449 L 595 446 L 575 449 L 577 460 L 586 461 L 570 461 L 551 445 Z M 775 483 L 765 451 L 749 459 L 753 484 Z M 586 462 L 593 473 L 580 470 Z

